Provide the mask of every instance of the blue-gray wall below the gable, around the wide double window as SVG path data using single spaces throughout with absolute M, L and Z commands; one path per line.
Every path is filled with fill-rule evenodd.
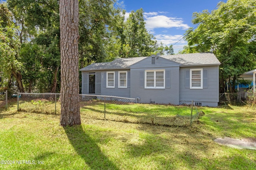
M 169 86 L 165 89 L 145 89 L 144 88 L 144 77 L 143 80 L 141 75 L 145 70 L 152 69 L 163 69 L 162 67 L 148 67 L 148 68 L 135 68 L 131 69 L 131 98 L 140 98 L 142 103 L 154 102 L 157 104 L 179 104 L 179 66 L 176 67 L 166 67 L 165 81 L 169 81 Z M 141 84 L 143 82 L 143 86 Z M 165 82 L 167 85 L 168 83 Z

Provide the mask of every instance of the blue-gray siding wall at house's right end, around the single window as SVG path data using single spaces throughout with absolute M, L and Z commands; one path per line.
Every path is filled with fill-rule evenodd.
M 203 68 L 203 89 L 190 89 L 186 74 L 190 68 Z M 207 71 L 204 71 L 207 70 Z M 198 102 L 202 106 L 218 106 L 219 102 L 219 72 L 218 66 L 180 67 L 180 104 Z M 207 75 L 206 75 L 207 73 Z M 208 77 L 207 77 L 208 76 Z M 204 81 L 208 81 L 207 83 Z

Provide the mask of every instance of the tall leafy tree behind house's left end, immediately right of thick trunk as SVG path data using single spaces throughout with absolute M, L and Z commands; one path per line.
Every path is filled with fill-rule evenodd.
M 93 62 L 106 61 L 108 50 L 118 48 L 116 27 L 120 21 L 120 8 L 116 0 L 79 1 L 79 54 L 81 67 Z M 111 58 L 111 57 L 110 57 Z

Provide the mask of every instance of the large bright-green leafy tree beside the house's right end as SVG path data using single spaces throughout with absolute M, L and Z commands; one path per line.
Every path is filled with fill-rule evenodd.
M 185 39 L 192 51 L 212 51 L 220 63 L 220 92 L 226 81 L 231 92 L 240 74 L 255 66 L 255 6 L 256 0 L 228 0 L 220 3 L 217 10 L 204 10 L 193 14 L 192 23 Z

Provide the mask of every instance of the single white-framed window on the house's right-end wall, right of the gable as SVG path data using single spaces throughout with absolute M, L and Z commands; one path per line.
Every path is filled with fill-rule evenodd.
M 203 69 L 190 69 L 190 88 L 203 88 Z

